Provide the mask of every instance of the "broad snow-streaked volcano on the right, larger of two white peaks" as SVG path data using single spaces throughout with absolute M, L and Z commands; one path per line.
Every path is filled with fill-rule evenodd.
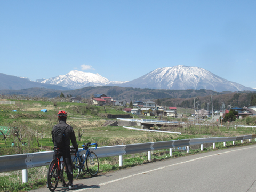
M 171 90 L 209 89 L 217 92 L 253 91 L 252 88 L 227 81 L 203 68 L 183 65 L 157 68 L 133 81 L 115 86 Z

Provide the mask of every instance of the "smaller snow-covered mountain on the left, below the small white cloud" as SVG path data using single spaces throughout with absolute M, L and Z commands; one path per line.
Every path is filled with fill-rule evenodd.
M 109 81 L 99 74 L 77 70 L 70 71 L 66 75 L 59 75 L 49 79 L 37 79 L 36 82 L 69 87 L 70 89 L 79 89 L 87 86 L 103 86 L 108 83 L 123 83 Z

